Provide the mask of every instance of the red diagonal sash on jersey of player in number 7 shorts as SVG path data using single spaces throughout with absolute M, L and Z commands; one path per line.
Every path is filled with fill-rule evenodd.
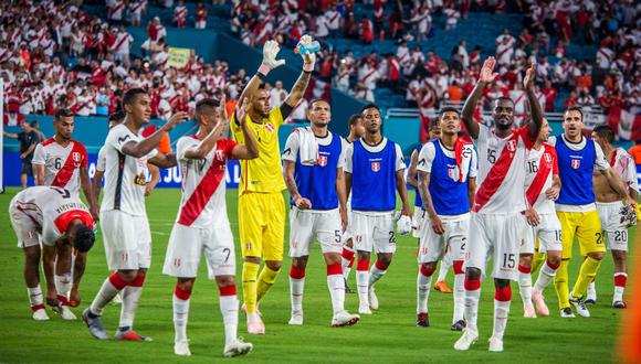
M 214 152 L 219 149 L 214 148 Z M 224 165 L 224 164 L 223 164 Z M 224 178 L 224 172 L 227 169 L 220 168 L 220 163 L 217 161 L 216 157 L 213 163 L 207 170 L 207 173 L 202 176 L 202 180 L 198 186 L 189 196 L 189 200 L 185 203 L 180 210 L 180 217 L 178 218 L 178 224 L 185 226 L 191 226 L 193 222 L 200 216 L 200 213 L 207 206 L 207 203 L 220 185 L 222 179 Z

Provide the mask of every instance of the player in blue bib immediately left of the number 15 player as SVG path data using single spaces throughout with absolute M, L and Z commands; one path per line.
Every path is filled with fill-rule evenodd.
M 465 245 L 470 240 L 470 208 L 476 189 L 477 158 L 474 147 L 459 137 L 461 118 L 453 107 L 439 115 L 441 135 L 421 149 L 417 169 L 421 208 L 417 326 L 429 326 L 428 297 L 437 263 L 450 255 L 454 266 L 453 331 L 465 328 L 463 288 Z M 441 263 L 442 264 L 442 263 Z

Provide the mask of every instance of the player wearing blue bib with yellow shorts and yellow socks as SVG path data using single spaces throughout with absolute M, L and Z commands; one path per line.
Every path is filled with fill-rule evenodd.
M 595 205 L 592 184 L 595 169 L 605 176 L 619 199 L 627 200 L 626 205 L 633 205 L 635 202 L 628 195 L 626 186 L 603 157 L 601 147 L 582 136 L 584 113 L 579 107 L 570 106 L 566 109 L 563 128 L 564 133 L 549 140 L 556 149 L 561 181 L 556 211 L 561 223 L 563 257 L 555 277 L 555 287 L 561 318 L 575 317 L 570 303 L 577 313 L 589 318 L 590 311 L 585 304 L 584 296 L 590 281 L 597 276 L 606 251 L 601 222 Z M 586 259 L 568 296 L 568 266 L 572 257 L 575 236 Z

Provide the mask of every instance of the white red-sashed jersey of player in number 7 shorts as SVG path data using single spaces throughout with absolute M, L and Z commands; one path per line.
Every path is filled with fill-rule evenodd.
M 231 159 L 233 140 L 221 139 L 204 159 L 187 159 L 185 152 L 200 140 L 196 136 L 178 139 L 176 146 L 182 178 L 182 197 L 176 222 L 185 226 L 212 228 L 229 224 L 225 203 L 227 161 Z

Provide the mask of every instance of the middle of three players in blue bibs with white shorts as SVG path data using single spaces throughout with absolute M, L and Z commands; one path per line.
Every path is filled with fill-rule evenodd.
M 396 251 L 396 191 L 402 201 L 398 233 L 408 235 L 412 227 L 402 151 L 397 143 L 381 135 L 382 119 L 378 106 L 365 105 L 361 114 L 365 119 L 365 135 L 347 147 L 345 183 L 346 192 L 351 192 L 358 313 L 371 314 L 371 309 L 378 309 L 374 285 L 385 276 Z M 377 259 L 369 270 L 372 249 Z

